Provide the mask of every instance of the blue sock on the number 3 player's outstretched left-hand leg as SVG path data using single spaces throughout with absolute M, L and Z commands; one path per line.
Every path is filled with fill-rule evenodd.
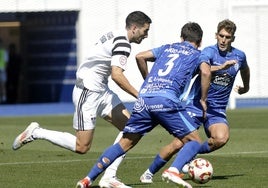
M 117 157 L 123 154 L 125 154 L 125 152 L 119 143 L 110 146 L 102 153 L 97 163 L 95 163 L 87 176 L 90 180 L 94 181 L 99 174 L 101 174 L 110 164 L 114 162 Z

